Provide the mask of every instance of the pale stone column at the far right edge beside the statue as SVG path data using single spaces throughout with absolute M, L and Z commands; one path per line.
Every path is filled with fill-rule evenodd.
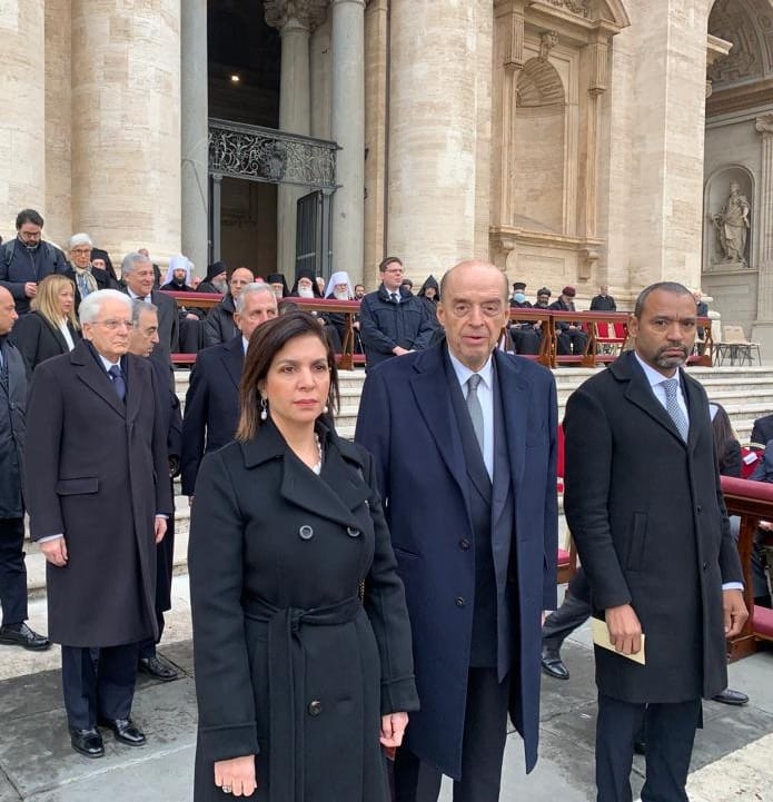
M 759 341 L 770 358 L 773 354 L 773 113 L 757 117 L 756 130 L 762 136 L 760 170 L 760 210 L 754 214 L 759 227 L 760 269 L 757 283 L 757 319 L 752 339 Z

